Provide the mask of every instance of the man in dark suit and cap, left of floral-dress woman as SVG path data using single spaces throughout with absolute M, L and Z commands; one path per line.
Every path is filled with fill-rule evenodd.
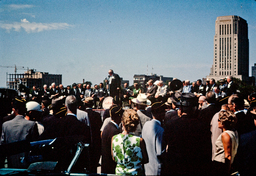
M 115 174 L 116 163 L 111 156 L 111 140 L 114 135 L 121 133 L 119 124 L 121 123 L 123 110 L 120 106 L 113 105 L 110 107 L 109 112 L 111 121 L 105 126 L 102 132 L 101 173 Z

